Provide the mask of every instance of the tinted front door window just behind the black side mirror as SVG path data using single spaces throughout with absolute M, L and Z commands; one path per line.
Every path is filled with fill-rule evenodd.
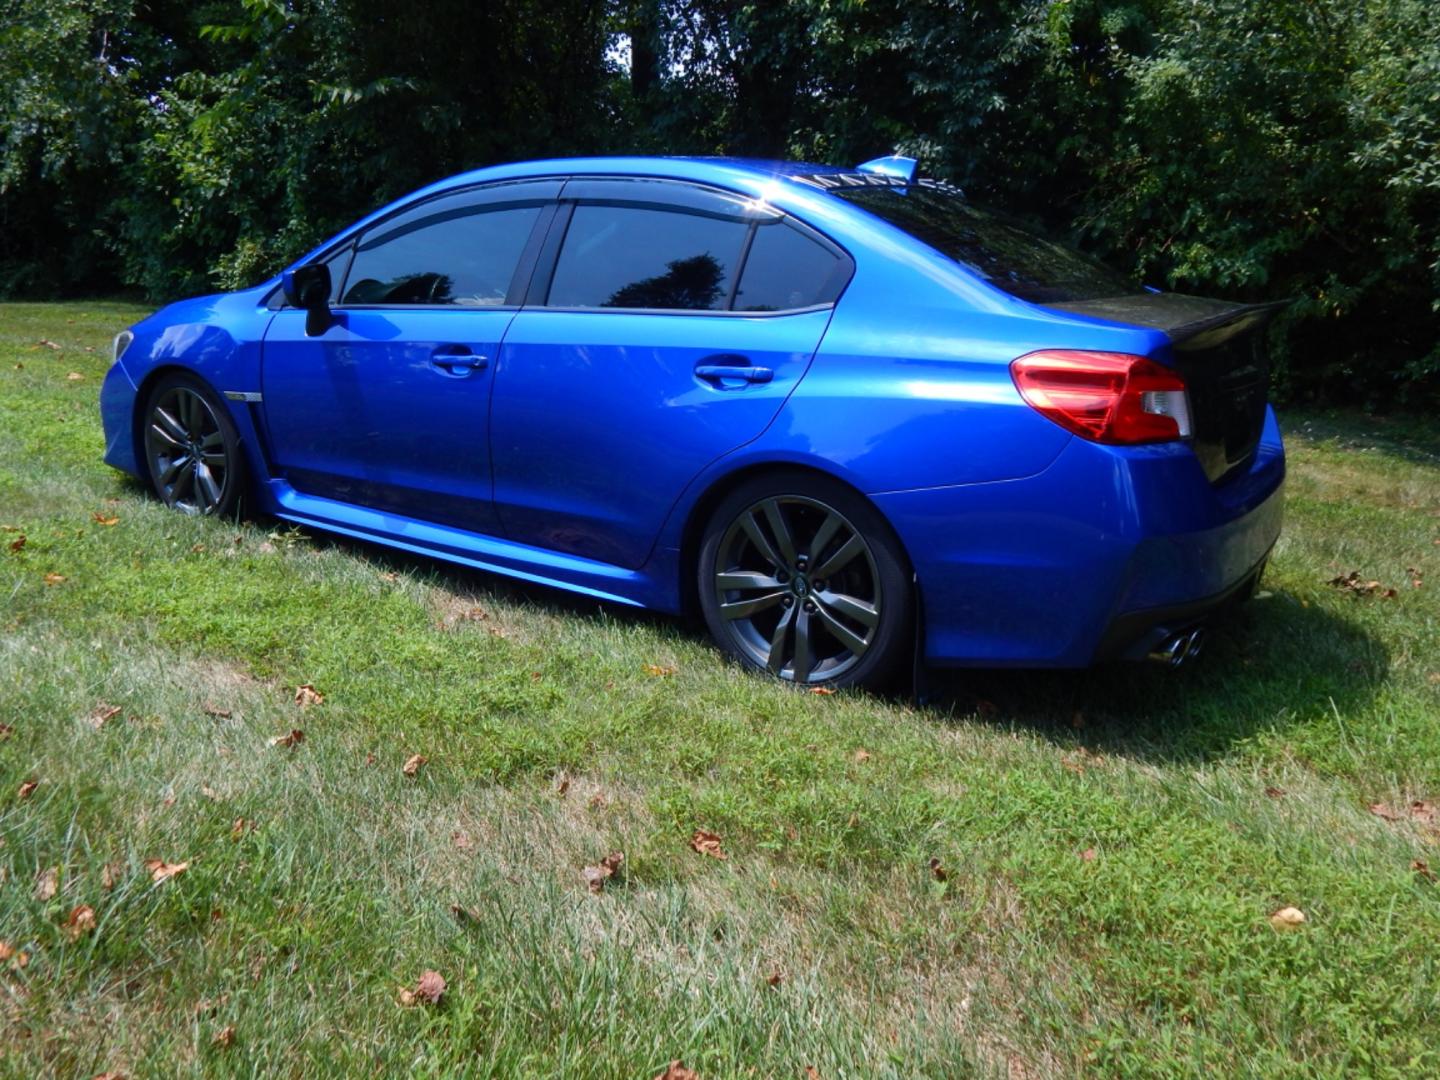
M 539 206 L 477 206 L 465 196 L 426 203 L 361 239 L 344 302 L 504 304 L 539 216 Z

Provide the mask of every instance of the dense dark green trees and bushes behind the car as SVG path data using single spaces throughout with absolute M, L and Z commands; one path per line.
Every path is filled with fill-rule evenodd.
M 253 281 L 478 164 L 891 148 L 1148 282 L 1295 297 L 1292 395 L 1440 386 L 1433 0 L 4 0 L 0 292 Z

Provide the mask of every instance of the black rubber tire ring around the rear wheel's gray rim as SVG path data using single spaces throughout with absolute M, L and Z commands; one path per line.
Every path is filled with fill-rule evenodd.
M 909 658 L 914 641 L 914 595 L 910 563 L 904 547 L 900 544 L 900 539 L 894 534 L 884 516 L 864 495 L 829 477 L 801 471 L 755 477 L 743 481 L 724 495 L 710 513 L 706 520 L 704 533 L 701 534 L 696 573 L 700 611 L 710 636 L 727 655 L 737 660 L 743 667 L 775 678 L 768 668 L 756 664 L 750 657 L 732 645 L 724 619 L 720 616 L 720 600 L 714 593 L 714 575 L 720 543 L 730 524 L 747 507 L 776 495 L 815 498 L 840 511 L 860 531 L 865 543 L 870 544 L 871 556 L 876 560 L 876 573 L 880 577 L 880 595 L 883 598 L 876 642 L 865 651 L 858 664 L 845 671 L 840 678 L 793 685 L 804 688 L 841 688 L 851 685 L 871 690 L 883 688 L 899 674 L 901 664 Z M 791 684 L 788 680 L 783 681 Z

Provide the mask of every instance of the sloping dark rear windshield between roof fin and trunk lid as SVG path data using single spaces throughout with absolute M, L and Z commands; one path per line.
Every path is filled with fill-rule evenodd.
M 1027 225 L 933 180 L 829 187 L 832 194 L 904 229 L 976 275 L 1032 304 L 1140 292 L 1133 281 Z

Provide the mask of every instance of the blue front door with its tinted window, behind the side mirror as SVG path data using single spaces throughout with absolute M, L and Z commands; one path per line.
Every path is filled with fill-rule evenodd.
M 331 256 L 334 325 L 307 337 L 305 312 L 282 308 L 265 336 L 276 474 L 307 494 L 498 531 L 495 359 L 559 190 L 528 181 L 429 199 Z

